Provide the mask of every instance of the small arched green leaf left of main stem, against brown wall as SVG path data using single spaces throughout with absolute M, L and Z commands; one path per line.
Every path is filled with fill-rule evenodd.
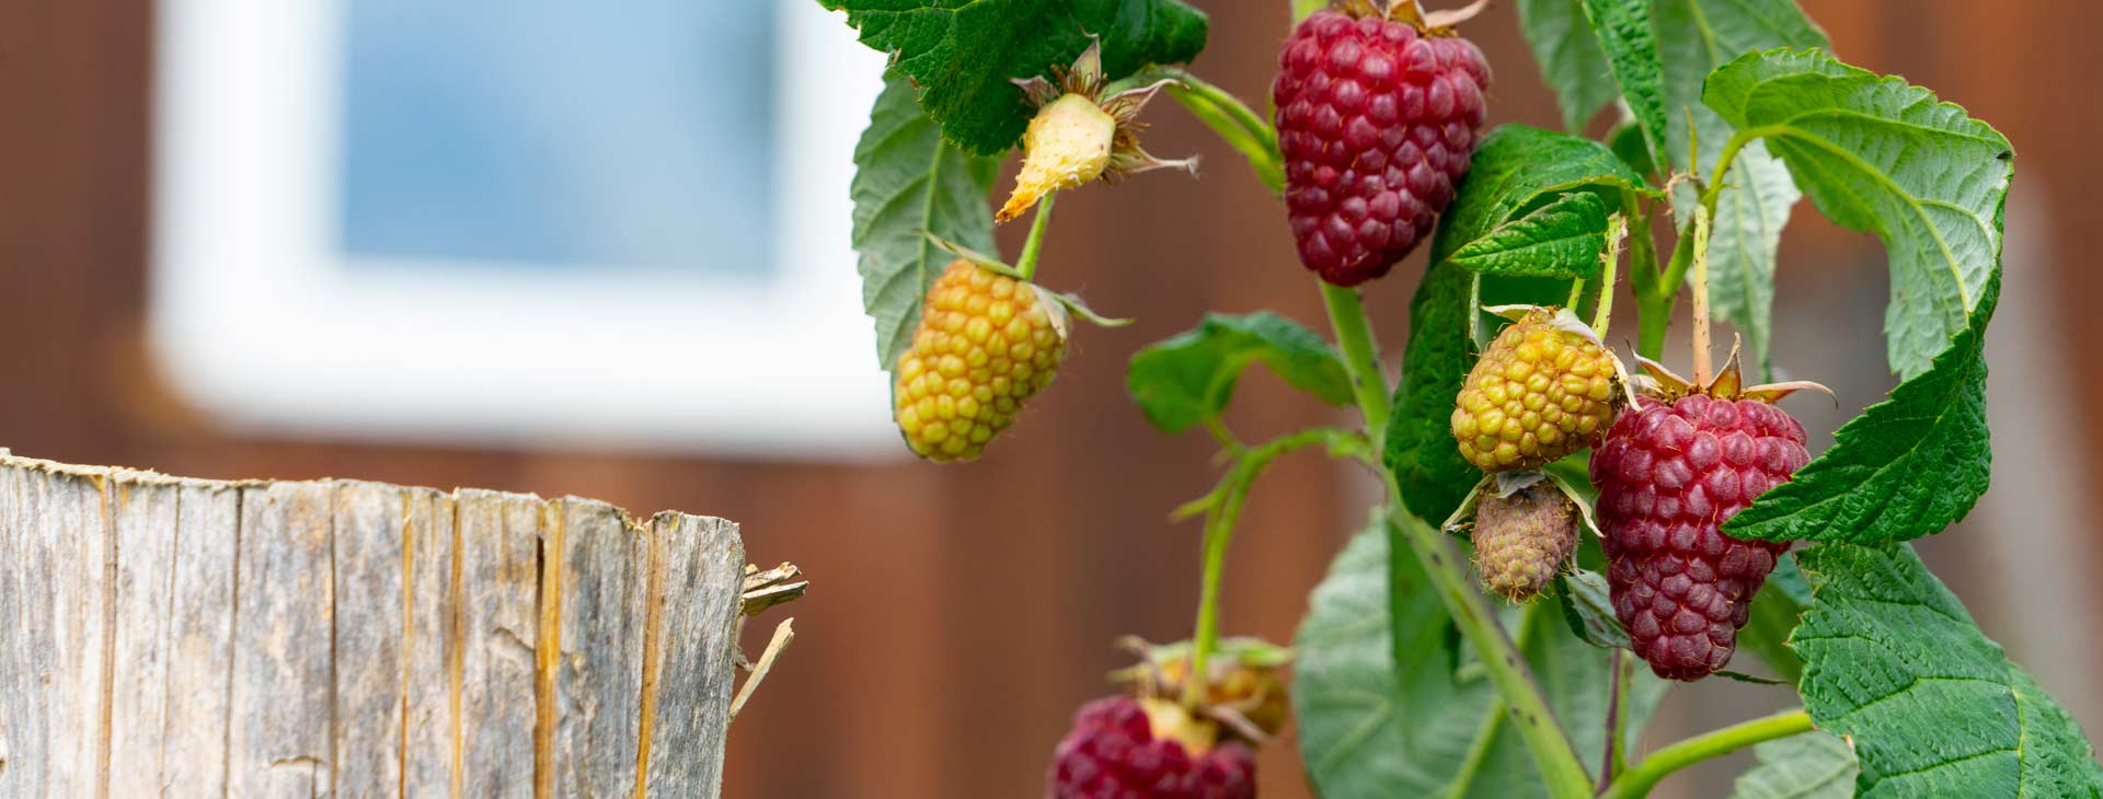
M 1161 431 L 1182 433 L 1226 408 L 1234 381 L 1262 362 L 1331 406 L 1352 402 L 1350 372 L 1314 330 L 1270 311 L 1205 315 L 1197 328 L 1131 355 L 1125 389 Z

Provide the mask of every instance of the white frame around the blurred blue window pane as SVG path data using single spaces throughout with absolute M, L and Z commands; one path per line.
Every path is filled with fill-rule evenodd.
M 904 448 L 860 309 L 852 153 L 883 55 L 776 2 L 772 280 L 349 265 L 336 0 L 164 0 L 149 336 L 244 433 L 789 458 Z M 486 265 L 484 265 L 486 267 Z

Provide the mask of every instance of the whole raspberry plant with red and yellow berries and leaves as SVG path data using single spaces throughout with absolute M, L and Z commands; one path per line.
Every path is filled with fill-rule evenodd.
M 1983 336 L 2013 149 L 1926 88 L 1828 53 L 1792 0 L 1512 0 L 1571 132 L 1497 124 L 1491 69 L 1464 38 L 1483 2 L 1281 2 L 1279 53 L 1237 55 L 1279 65 L 1268 107 L 1184 67 L 1205 15 L 1180 0 L 820 2 L 892 55 L 856 149 L 854 242 L 879 362 L 917 391 L 898 397 L 915 450 L 976 456 L 1049 383 L 1037 372 L 1056 357 L 993 345 L 1014 311 L 999 296 L 1115 324 L 1039 286 L 1039 252 L 1058 193 L 1188 166 L 1138 147 L 1157 93 L 1247 158 L 1321 278 L 1329 336 L 1216 313 L 1131 357 L 1140 412 L 1216 435 L 1226 473 L 1178 511 L 1203 517 L 1192 639 L 1148 648 L 1121 673 L 1131 692 L 1081 709 L 1047 795 L 1253 791 L 1247 746 L 1274 732 L 1281 688 L 1245 688 L 1274 685 L 1285 652 L 1222 641 L 1220 564 L 1249 486 L 1304 448 L 1386 484 L 1291 650 L 1323 797 L 1642 797 L 1748 746 L 1760 763 L 1741 797 L 2103 795 L 2080 728 L 1907 545 L 1987 488 Z M 1609 135 L 1577 132 L 1609 109 Z M 1022 181 L 999 191 L 1016 149 Z M 993 242 L 1003 193 L 1003 221 L 1030 214 L 1014 265 Z M 1775 370 L 1775 252 L 1804 198 L 1884 242 L 1899 376 L 1817 454 L 1783 402 L 1813 385 L 1748 385 Z M 1403 290 L 1388 273 L 1413 250 L 1428 267 L 1390 381 L 1359 292 Z M 1621 275 L 1634 307 L 1617 317 Z M 984 292 L 948 296 L 938 278 Z M 1661 364 L 1680 360 L 1663 343 L 1682 301 L 1691 381 Z M 1720 370 L 1712 317 L 1743 347 Z M 1508 320 L 1525 322 L 1499 334 Z M 1615 322 L 1636 330 L 1628 362 L 1605 347 Z M 995 362 L 1030 364 L 1009 406 L 980 397 L 1001 395 Z M 1253 364 L 1356 423 L 1234 437 L 1220 414 Z M 923 412 L 940 397 L 953 408 Z M 940 448 L 953 433 L 969 446 Z M 1802 706 L 1634 757 L 1661 677 L 1714 673 Z

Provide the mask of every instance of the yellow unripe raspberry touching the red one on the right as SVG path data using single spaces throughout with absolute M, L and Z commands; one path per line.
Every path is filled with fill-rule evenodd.
M 1453 408 L 1459 454 L 1483 471 L 1535 469 L 1613 423 L 1613 353 L 1575 315 L 1527 311 L 1483 349 Z

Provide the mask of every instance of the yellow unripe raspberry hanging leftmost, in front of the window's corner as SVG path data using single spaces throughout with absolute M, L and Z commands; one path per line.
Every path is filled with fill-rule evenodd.
M 972 460 L 1066 353 L 1066 315 L 1033 284 L 953 261 L 927 288 L 892 387 L 898 431 L 930 460 Z

